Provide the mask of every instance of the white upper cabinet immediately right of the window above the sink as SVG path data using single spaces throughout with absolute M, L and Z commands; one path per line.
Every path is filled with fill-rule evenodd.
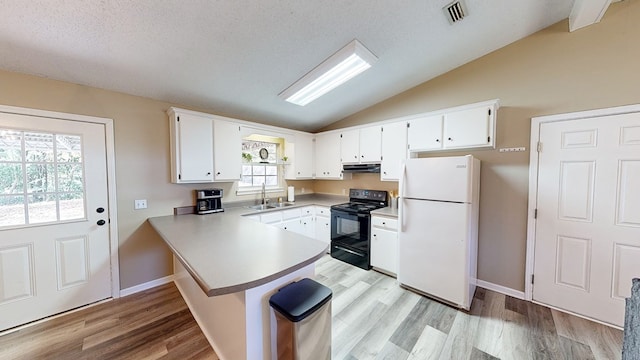
M 296 133 L 293 142 L 285 142 L 285 179 L 313 178 L 313 134 Z

